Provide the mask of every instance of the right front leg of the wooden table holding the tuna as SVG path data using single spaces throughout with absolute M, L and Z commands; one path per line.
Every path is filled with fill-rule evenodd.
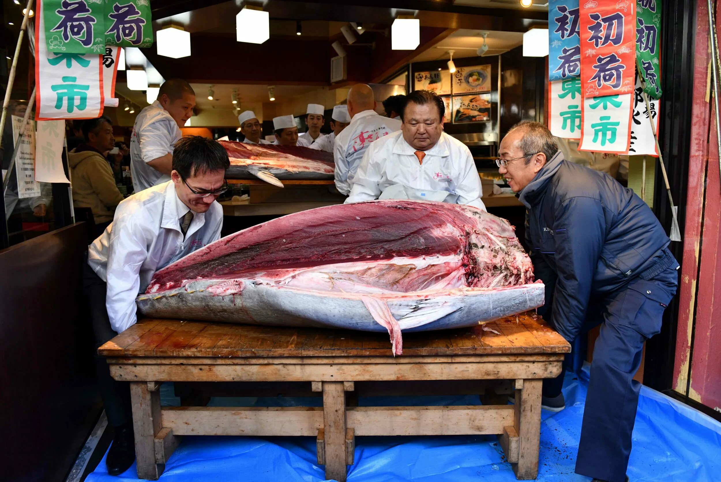
M 539 443 L 541 441 L 541 379 L 527 379 L 516 389 L 516 431 L 518 432 L 518 463 L 514 463 L 516 478 L 528 481 L 539 473 Z

